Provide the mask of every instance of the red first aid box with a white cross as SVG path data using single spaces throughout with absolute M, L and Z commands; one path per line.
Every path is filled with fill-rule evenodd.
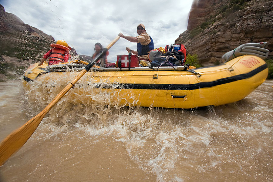
M 118 55 L 116 56 L 116 65 L 119 66 L 119 61 L 121 68 L 128 68 L 129 67 L 129 55 Z M 132 67 L 139 67 L 139 59 L 136 55 L 131 55 L 131 62 L 130 62 L 130 68 Z

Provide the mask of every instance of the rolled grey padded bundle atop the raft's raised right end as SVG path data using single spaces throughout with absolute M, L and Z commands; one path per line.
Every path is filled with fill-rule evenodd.
M 268 45 L 268 42 L 243 44 L 238 46 L 236 49 L 225 53 L 222 56 L 222 60 L 224 62 L 228 62 L 231 59 L 234 59 L 238 56 L 243 56 L 243 55 L 252 55 L 252 56 L 257 56 L 261 59 L 266 59 L 269 53 L 269 50 L 265 49 L 267 45 Z

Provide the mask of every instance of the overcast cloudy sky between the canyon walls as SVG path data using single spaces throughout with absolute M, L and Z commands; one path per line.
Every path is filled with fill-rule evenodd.
M 174 44 L 187 29 L 193 0 L 0 0 L 6 12 L 15 14 L 57 41 L 65 40 L 78 54 L 92 56 L 94 44 L 106 47 L 120 32 L 137 36 L 136 26 L 143 23 L 153 38 L 154 47 Z M 116 55 L 128 54 L 126 47 L 136 50 L 136 43 L 120 38 L 112 48 L 108 61 Z M 50 47 L 49 47 L 50 48 Z

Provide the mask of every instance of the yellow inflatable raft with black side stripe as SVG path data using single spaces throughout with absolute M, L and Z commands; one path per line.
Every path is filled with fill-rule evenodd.
M 27 69 L 24 80 L 27 85 L 45 75 L 52 78 L 68 73 L 73 79 L 85 64 L 74 61 L 47 67 L 47 64 L 38 66 L 36 63 Z M 194 108 L 241 100 L 268 76 L 265 61 L 250 55 L 236 57 L 219 66 L 188 71 L 184 66 L 154 69 L 136 67 L 129 71 L 128 68 L 93 67 L 86 73 L 89 83 L 93 84 L 86 86 L 110 94 L 111 102 L 117 105 Z

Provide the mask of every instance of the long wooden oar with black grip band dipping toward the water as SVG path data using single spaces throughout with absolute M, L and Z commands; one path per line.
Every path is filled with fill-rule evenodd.
M 71 89 L 77 81 L 107 52 L 114 43 L 120 38 L 117 36 L 109 45 L 106 46 L 95 59 L 92 60 L 74 80 L 72 80 L 50 103 L 45 107 L 42 112 L 34 116 L 31 120 L 21 126 L 19 129 L 9 134 L 0 144 L 0 166 L 17 150 L 19 150 L 30 136 L 37 129 L 46 113 L 52 109 L 53 106 Z

